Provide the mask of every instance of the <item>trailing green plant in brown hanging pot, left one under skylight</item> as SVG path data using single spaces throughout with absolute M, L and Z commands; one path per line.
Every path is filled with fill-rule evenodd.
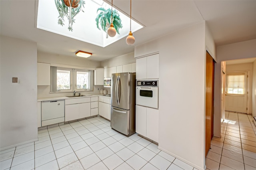
M 60 14 L 58 24 L 64 26 L 64 17 L 68 18 L 68 30 L 73 31 L 74 17 L 84 8 L 84 0 L 55 0 L 56 8 Z M 82 12 L 84 12 L 82 10 Z

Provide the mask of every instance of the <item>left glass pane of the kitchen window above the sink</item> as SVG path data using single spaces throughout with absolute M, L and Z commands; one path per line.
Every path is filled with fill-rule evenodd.
M 57 90 L 70 89 L 70 71 L 57 69 Z

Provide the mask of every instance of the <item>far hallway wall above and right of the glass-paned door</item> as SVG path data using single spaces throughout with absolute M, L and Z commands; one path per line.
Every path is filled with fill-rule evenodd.
M 226 72 L 248 71 L 248 113 L 252 114 L 252 63 L 226 65 Z

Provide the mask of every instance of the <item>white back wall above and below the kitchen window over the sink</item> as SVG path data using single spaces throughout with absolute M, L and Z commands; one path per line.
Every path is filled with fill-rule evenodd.
M 65 55 L 56 55 L 52 53 L 45 53 L 38 51 L 37 55 L 38 62 L 51 63 L 51 64 L 60 64 L 61 65 L 69 65 L 70 67 L 89 67 L 91 69 L 101 67 L 100 61 L 92 61 L 90 58 L 82 58 L 82 57 L 70 57 Z M 47 98 L 47 97 L 62 97 L 62 96 L 70 96 L 73 95 L 72 92 L 69 93 L 50 93 L 50 86 L 37 86 L 38 88 L 38 98 Z M 88 92 L 79 92 L 82 95 L 86 93 L 90 94 L 100 94 L 100 89 L 103 88 L 103 85 L 94 85 L 93 91 Z M 98 90 L 99 89 L 99 90 Z

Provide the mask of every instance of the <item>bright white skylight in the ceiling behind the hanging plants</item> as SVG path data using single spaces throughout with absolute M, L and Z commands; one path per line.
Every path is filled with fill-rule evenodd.
M 83 42 L 92 43 L 101 47 L 106 47 L 121 38 L 128 36 L 130 32 L 130 18 L 122 12 L 118 11 L 122 20 L 123 27 L 119 30 L 120 34 L 114 37 L 108 36 L 102 29 L 99 30 L 96 26 L 95 18 L 97 17 L 97 9 L 103 7 L 110 8 L 111 5 L 102 0 L 84 0 L 84 8 L 74 17 L 75 21 L 72 25 L 73 31 L 68 30 L 68 18 L 64 19 L 64 25 L 58 24 L 59 13 L 54 0 L 39 0 L 37 28 L 54 32 L 63 36 L 81 40 Z M 128 6 L 130 8 L 130 6 Z M 127 8 L 128 8 L 127 7 Z M 113 10 L 115 8 L 113 7 Z M 132 32 L 143 28 L 142 25 L 132 20 Z

